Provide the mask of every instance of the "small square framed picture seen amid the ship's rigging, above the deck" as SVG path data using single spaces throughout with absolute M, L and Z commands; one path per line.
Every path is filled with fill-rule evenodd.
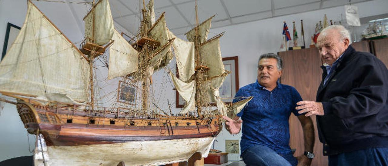
M 119 81 L 117 101 L 125 104 L 136 105 L 137 86 L 124 81 Z

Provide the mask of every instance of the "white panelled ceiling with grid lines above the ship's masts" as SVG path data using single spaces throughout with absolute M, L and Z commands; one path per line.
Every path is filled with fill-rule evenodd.
M 92 0 L 86 0 L 88 2 Z M 96 0 L 97 1 L 97 0 Z M 168 28 L 181 35 L 195 25 L 195 0 L 154 0 L 155 14 L 166 12 Z M 369 0 L 352 0 L 352 3 Z M 110 0 L 116 24 L 132 34 L 139 28 L 142 0 Z M 148 3 L 148 0 L 145 0 Z M 349 0 L 197 0 L 199 23 L 217 14 L 212 28 L 341 6 Z

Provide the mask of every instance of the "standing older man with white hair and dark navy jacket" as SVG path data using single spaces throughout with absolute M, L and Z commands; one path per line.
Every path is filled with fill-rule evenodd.
M 317 102 L 301 101 L 296 109 L 317 115 L 329 166 L 387 166 L 388 70 L 350 43 L 341 25 L 322 30 L 317 44 L 324 66 Z

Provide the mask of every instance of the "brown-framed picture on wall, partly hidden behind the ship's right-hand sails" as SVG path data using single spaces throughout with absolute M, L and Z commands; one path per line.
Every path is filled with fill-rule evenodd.
M 225 78 L 225 81 L 220 87 L 220 97 L 223 102 L 230 104 L 233 101 L 233 97 L 239 90 L 239 62 L 238 56 L 222 58 L 225 70 L 230 71 Z M 177 77 L 179 78 L 178 74 Z M 179 95 L 178 91 L 175 92 L 176 107 L 183 108 L 185 106 L 184 99 Z M 215 104 L 214 104 L 215 105 Z

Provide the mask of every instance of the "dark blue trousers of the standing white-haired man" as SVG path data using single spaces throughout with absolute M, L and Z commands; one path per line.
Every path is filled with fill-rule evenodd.
M 388 147 L 331 155 L 329 166 L 388 166 Z

